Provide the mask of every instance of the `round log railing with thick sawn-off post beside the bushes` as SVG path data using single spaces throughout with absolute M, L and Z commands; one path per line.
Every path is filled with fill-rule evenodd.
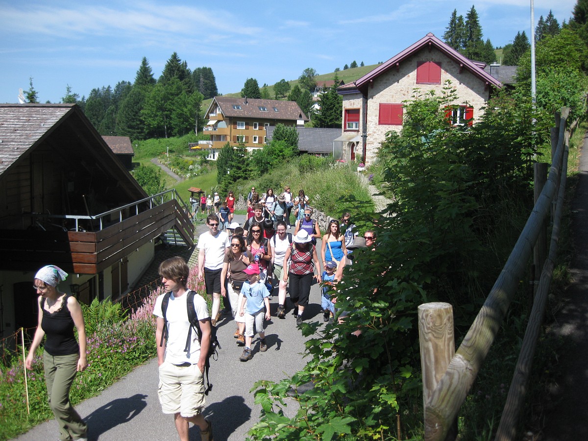
M 453 355 L 455 346 L 450 305 L 437 303 L 419 307 L 425 439 L 427 441 L 455 438 L 457 412 L 465 401 L 480 366 L 495 340 L 496 333 L 519 286 L 519 281 L 523 278 L 529 260 L 533 256 L 533 247 L 544 228 L 544 221 L 549 216 L 552 202 L 556 201 L 549 256 L 543 266 L 539 289 L 496 439 L 512 440 L 515 436 L 515 421 L 525 393 L 559 241 L 570 136 L 570 130 L 566 131 L 568 115 L 569 109 L 562 109 L 560 118 L 556 119 L 559 133 L 557 136 L 552 136 L 552 165 L 549 179 L 540 192 L 505 267 L 455 355 Z

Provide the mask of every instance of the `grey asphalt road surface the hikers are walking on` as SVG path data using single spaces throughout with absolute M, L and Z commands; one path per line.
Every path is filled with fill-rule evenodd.
M 243 223 L 245 216 L 235 216 Z M 206 230 L 198 227 L 196 234 Z M 290 230 L 289 230 L 290 231 Z M 320 251 L 320 241 L 319 241 Z M 319 257 L 320 259 L 320 257 Z M 218 324 L 221 349 L 218 360 L 211 361 L 210 380 L 213 390 L 206 398 L 205 416 L 212 420 L 215 441 L 243 441 L 246 433 L 259 419 L 260 406 L 255 405 L 253 383 L 260 379 L 278 381 L 292 375 L 305 365 L 302 358 L 305 339 L 296 328 L 295 318 L 276 318 L 278 296 L 270 301 L 272 320 L 266 323 L 269 349 L 259 352 L 259 337 L 253 340 L 253 359 L 240 362 L 242 348 L 235 344 L 236 325 L 225 316 Z M 291 312 L 291 311 L 289 311 Z M 310 305 L 305 320 L 322 322 L 319 285 L 312 286 Z M 155 336 L 153 337 L 155 338 Z M 76 406 L 88 422 L 90 440 L 177 440 L 173 416 L 161 412 L 156 389 L 158 370 L 156 359 L 139 366 L 115 385 Z M 295 404 L 289 412 L 296 412 Z M 55 441 L 59 430 L 55 420 L 42 423 L 18 437 L 21 441 Z M 198 427 L 191 427 L 190 439 L 199 440 Z

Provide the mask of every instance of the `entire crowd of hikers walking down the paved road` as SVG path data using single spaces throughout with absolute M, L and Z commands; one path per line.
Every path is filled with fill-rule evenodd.
M 270 319 L 269 300 L 276 289 L 279 319 L 285 319 L 292 308 L 296 325 L 302 323 L 314 278 L 322 285 L 323 320 L 333 323 L 336 316 L 344 320 L 347 312 L 336 310 L 335 285 L 342 278 L 344 266 L 352 263 L 353 249 L 375 249 L 375 232 L 368 230 L 359 237 L 350 213 L 340 220 L 330 220 L 321 237 L 319 225 L 312 219 L 309 198 L 302 190 L 295 198 L 288 186 L 277 196 L 268 189 L 260 197 L 253 187 L 243 226 L 232 222 L 233 192 L 223 202 L 218 199 L 218 212 L 213 200 L 213 208 L 206 216 L 208 231 L 199 236 L 197 245 L 198 279 L 204 282 L 212 299 L 211 313 L 205 299 L 188 288 L 189 268 L 184 259 L 173 257 L 159 265 L 165 293 L 158 296 L 153 309 L 158 397 L 163 413 L 173 415 L 181 440 L 188 440 L 189 423 L 200 427 L 202 440 L 213 440 L 212 423 L 202 415 L 208 393 L 204 376 L 216 339 L 216 324 L 222 319 L 221 298 L 225 299 L 224 312 L 235 320 L 236 343 L 243 347 L 239 360 L 246 362 L 253 356 L 255 333 L 259 334 L 259 352 L 268 349 L 265 321 Z M 290 223 L 292 213 L 294 225 Z M 291 228 L 295 228 L 293 233 L 287 231 Z M 322 239 L 320 255 L 317 239 Z M 33 288 L 39 296 L 39 319 L 25 365 L 32 368 L 36 349 L 46 335 L 45 379 L 49 405 L 59 425 L 59 439 L 84 441 L 88 427 L 71 406 L 69 389 L 76 372 L 88 365 L 86 333 L 79 303 L 58 289 L 66 276 L 54 265 L 41 268 L 35 275 Z M 290 305 L 286 303 L 288 282 Z

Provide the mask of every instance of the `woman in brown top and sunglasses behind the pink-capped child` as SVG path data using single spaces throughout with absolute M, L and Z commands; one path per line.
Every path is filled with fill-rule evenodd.
M 245 337 L 243 336 L 245 316 L 240 316 L 237 312 L 243 298 L 241 288 L 247 280 L 247 275 L 243 271 L 251 262 L 253 262 L 253 255 L 247 250 L 243 236 L 233 236 L 230 239 L 230 250 L 225 254 L 225 261 L 220 273 L 220 295 L 226 297 L 227 292 L 229 293 L 230 309 L 235 322 L 237 322 L 237 330 L 233 337 L 237 339 L 239 346 L 245 345 Z M 228 283 L 227 274 L 230 274 Z

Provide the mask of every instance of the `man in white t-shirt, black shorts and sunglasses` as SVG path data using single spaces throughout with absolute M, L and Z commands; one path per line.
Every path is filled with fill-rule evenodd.
M 220 272 L 225 250 L 230 246 L 229 235 L 219 231 L 219 219 L 211 213 L 206 216 L 208 231 L 198 238 L 198 280 L 204 280 L 206 293 L 212 297 L 212 325 L 220 319 Z

